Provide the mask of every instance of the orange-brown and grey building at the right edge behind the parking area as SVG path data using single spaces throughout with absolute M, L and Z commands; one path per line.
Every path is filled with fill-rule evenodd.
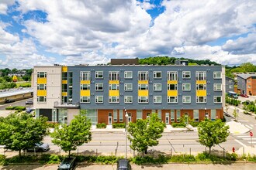
M 256 73 L 237 74 L 237 90 L 247 95 L 256 95 Z

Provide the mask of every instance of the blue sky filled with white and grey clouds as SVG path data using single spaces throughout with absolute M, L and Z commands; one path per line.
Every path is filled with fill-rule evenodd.
M 256 1 L 0 0 L 0 69 L 147 56 L 256 65 Z

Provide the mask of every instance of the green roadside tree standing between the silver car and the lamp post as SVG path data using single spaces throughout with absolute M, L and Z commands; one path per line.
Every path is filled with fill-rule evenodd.
M 75 150 L 78 146 L 92 140 L 91 125 L 91 121 L 85 114 L 78 114 L 71 121 L 71 124 L 61 124 L 54 129 L 54 132 L 50 134 L 53 138 L 52 142 L 60 146 L 62 150 L 68 151 L 70 156 L 71 150 Z

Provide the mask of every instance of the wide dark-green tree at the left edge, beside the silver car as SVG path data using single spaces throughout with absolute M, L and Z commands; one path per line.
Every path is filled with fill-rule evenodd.
M 0 144 L 12 151 L 32 148 L 47 134 L 47 117 L 34 119 L 29 114 L 14 113 L 0 119 Z

